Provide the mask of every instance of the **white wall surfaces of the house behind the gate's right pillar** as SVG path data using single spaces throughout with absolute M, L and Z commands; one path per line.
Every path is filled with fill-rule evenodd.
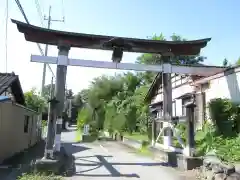
M 240 68 L 232 68 L 224 73 L 219 73 L 214 76 L 210 76 L 201 80 L 201 85 L 194 87 L 187 83 L 187 79 L 176 81 L 172 80 L 172 99 L 173 99 L 173 116 L 182 116 L 183 114 L 183 100 L 176 99 L 185 93 L 191 93 L 196 91 L 196 96 L 198 101 L 203 99 L 201 102 L 201 107 L 197 107 L 196 118 L 198 121 L 198 126 L 200 127 L 202 121 L 208 116 L 207 104 L 215 98 L 228 98 L 233 102 L 240 102 Z M 204 94 L 203 94 L 204 93 Z M 204 95 L 200 97 L 200 94 Z M 159 87 L 158 94 L 152 99 L 151 103 L 157 103 L 163 101 L 162 88 Z M 202 107 L 203 106 L 203 107 Z M 161 113 L 160 113 L 161 116 Z

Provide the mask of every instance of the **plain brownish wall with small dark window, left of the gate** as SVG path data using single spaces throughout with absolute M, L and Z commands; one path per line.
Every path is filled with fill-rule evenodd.
M 24 123 L 27 122 L 25 126 Z M 12 102 L 0 103 L 0 162 L 38 141 L 37 114 Z

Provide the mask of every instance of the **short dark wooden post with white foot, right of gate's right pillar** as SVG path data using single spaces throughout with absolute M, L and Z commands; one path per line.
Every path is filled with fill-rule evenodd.
M 187 145 L 185 149 L 186 156 L 194 156 L 195 140 L 194 140 L 194 101 L 185 105 L 187 116 Z

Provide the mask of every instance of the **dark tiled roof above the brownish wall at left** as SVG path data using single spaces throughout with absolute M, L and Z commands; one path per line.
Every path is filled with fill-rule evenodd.
M 0 73 L 0 94 L 8 88 L 11 89 L 15 101 L 18 104 L 25 105 L 24 94 L 19 78 L 14 73 Z

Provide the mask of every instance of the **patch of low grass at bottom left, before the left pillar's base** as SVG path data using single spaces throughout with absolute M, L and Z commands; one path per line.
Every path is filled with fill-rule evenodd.
M 23 174 L 18 180 L 63 180 L 61 176 L 44 174 Z

